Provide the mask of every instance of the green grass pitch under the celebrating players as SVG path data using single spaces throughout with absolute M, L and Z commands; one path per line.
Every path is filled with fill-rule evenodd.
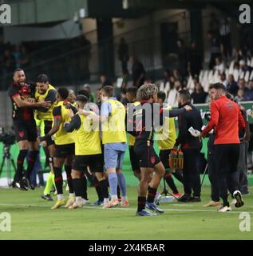
M 40 194 L 42 189 L 0 190 L 0 214 L 11 214 L 11 231 L 0 231 L 0 239 L 253 239 L 252 195 L 244 196 L 242 208 L 218 213 L 215 208 L 204 208 L 210 194 L 210 187 L 204 186 L 202 202 L 161 203 L 164 214 L 136 217 L 134 186 L 128 187 L 128 208 L 106 210 L 89 205 L 77 210 L 51 210 L 53 202 L 45 202 Z M 93 188 L 89 188 L 89 200 L 96 200 Z M 250 232 L 239 230 L 241 212 L 251 215 Z

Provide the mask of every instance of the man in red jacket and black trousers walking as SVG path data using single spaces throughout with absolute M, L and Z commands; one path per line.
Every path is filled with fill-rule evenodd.
M 215 161 L 219 186 L 219 196 L 223 199 L 221 212 L 231 211 L 227 201 L 227 190 L 236 199 L 235 207 L 243 206 L 239 192 L 237 164 L 239 160 L 239 129 L 245 128 L 245 122 L 239 106 L 226 97 L 225 86 L 215 83 L 210 86 L 211 119 L 202 131 L 204 137 L 215 129 Z

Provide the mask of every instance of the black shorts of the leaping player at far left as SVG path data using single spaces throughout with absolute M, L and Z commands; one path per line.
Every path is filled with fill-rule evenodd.
M 14 120 L 14 131 L 18 142 L 29 141 L 36 142 L 38 138 L 35 120 L 19 121 Z

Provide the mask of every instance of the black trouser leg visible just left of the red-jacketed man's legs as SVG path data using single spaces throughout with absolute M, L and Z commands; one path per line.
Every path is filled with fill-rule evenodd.
M 211 200 L 219 202 L 218 178 L 215 170 L 215 155 L 208 154 L 208 178 L 211 183 Z

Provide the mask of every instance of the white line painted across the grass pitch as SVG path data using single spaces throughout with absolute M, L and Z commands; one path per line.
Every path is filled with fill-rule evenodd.
M 50 206 L 46 206 L 46 205 L 26 205 L 26 204 L 12 204 L 12 203 L 0 203 L 0 206 L 23 206 L 23 207 L 46 207 L 46 208 L 50 208 Z M 251 207 L 251 206 L 249 206 Z M 61 208 L 64 209 L 64 208 Z M 97 206 L 84 206 L 83 209 L 91 209 L 91 210 L 136 210 L 136 208 L 120 208 L 120 207 L 114 207 L 111 209 L 103 209 L 102 207 L 97 207 Z M 179 211 L 179 212 L 208 212 L 208 213 L 217 213 L 216 210 L 197 210 L 197 209 L 174 209 L 174 208 L 165 208 L 163 209 L 164 211 Z M 248 214 L 253 214 L 252 211 L 230 211 L 227 212 L 227 214 L 240 214 L 240 213 L 244 213 L 247 212 Z

